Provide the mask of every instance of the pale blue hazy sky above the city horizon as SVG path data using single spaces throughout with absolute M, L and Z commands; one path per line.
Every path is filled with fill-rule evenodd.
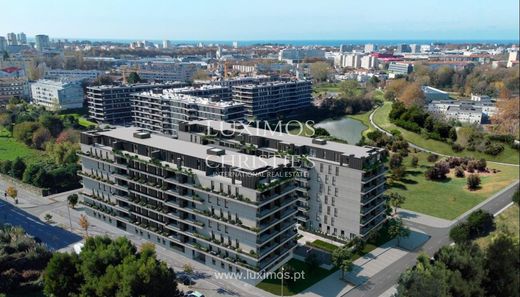
M 171 40 L 513 39 L 519 0 L 2 0 L 0 34 Z

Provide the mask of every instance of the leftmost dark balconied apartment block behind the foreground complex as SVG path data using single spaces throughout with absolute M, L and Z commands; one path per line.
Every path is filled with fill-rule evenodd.
M 123 124 L 132 121 L 131 94 L 152 89 L 178 88 L 184 83 L 104 85 L 87 87 L 89 118 L 98 123 Z

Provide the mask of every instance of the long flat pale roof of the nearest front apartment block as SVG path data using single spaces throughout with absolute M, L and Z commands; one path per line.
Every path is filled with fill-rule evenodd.
M 134 137 L 134 133 L 140 131 L 142 131 L 142 129 L 136 127 L 117 127 L 107 131 L 96 132 L 96 134 L 105 135 L 123 141 L 147 145 L 169 152 L 176 152 L 182 155 L 193 156 L 231 167 L 238 167 L 247 171 L 256 171 L 268 167 L 275 168 L 280 165 L 286 165 L 290 163 L 289 160 L 283 158 L 262 158 L 235 152 L 232 150 L 226 150 L 225 154 L 221 156 L 210 155 L 208 154 L 208 149 L 211 149 L 212 146 L 173 139 L 154 133 L 150 133 L 150 138 L 141 139 Z

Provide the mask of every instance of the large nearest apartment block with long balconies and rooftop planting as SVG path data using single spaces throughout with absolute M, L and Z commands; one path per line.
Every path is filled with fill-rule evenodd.
M 134 127 L 82 133 L 79 155 L 92 217 L 220 271 L 272 271 L 292 257 L 298 199 L 286 159 Z

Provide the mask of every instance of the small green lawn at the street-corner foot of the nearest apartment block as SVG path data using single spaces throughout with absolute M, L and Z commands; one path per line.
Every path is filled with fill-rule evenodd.
M 320 280 L 334 273 L 337 269 L 326 270 L 321 267 L 311 267 L 307 263 L 291 259 L 287 262 L 288 265 L 292 266 L 295 272 L 304 272 L 303 279 L 296 280 L 294 284 L 287 284 L 287 280 L 284 280 L 283 295 L 292 296 L 300 293 L 301 291 L 309 288 Z M 282 291 L 281 280 L 277 278 L 269 278 L 263 280 L 261 283 L 256 285 L 269 293 L 280 295 Z

